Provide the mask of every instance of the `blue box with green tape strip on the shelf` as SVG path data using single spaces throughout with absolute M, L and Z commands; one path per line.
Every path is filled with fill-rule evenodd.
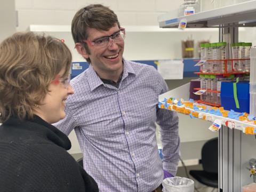
M 239 102 L 239 108 L 236 108 L 233 91 L 234 82 L 221 82 L 220 100 L 221 106 L 226 110 L 233 109 L 237 112 L 250 113 L 250 85 L 249 82 L 238 82 L 237 87 L 237 99 Z

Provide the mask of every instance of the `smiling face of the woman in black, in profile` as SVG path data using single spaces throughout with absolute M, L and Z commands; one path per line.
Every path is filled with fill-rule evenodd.
M 62 69 L 49 85 L 49 92 L 36 109 L 35 114 L 50 124 L 65 118 L 66 99 L 69 94 L 74 94 L 74 90 L 67 81 L 65 85 L 64 80 L 67 80 L 67 77 L 62 78 L 64 71 L 65 69 Z

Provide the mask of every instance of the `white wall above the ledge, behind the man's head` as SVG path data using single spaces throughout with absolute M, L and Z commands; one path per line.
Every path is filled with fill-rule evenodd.
M 157 16 L 178 9 L 183 0 L 16 0 L 19 27 L 29 25 L 70 25 L 78 9 L 100 3 L 115 11 L 123 26 L 158 25 Z

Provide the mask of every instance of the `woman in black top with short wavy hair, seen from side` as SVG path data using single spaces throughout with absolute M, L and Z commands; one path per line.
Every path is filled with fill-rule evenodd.
M 0 44 L 0 190 L 98 191 L 51 125 L 65 117 L 71 53 L 62 41 L 16 33 Z

